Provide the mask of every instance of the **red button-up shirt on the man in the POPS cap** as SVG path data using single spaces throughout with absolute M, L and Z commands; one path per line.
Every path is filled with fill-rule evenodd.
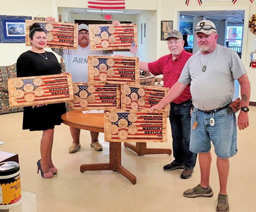
M 175 60 L 172 59 L 172 54 L 168 54 L 160 57 L 155 62 L 148 63 L 148 69 L 155 76 L 163 74 L 164 87 L 171 88 L 178 81 L 185 63 L 192 55 L 192 53 L 186 52 L 183 49 Z M 172 102 L 179 104 L 189 99 L 191 99 L 190 84 Z

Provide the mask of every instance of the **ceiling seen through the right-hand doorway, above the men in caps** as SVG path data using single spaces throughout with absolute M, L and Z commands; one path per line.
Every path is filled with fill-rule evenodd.
M 244 10 L 223 10 L 223 11 L 182 11 L 181 15 L 188 16 L 206 16 L 218 20 L 227 20 L 233 23 L 243 23 Z

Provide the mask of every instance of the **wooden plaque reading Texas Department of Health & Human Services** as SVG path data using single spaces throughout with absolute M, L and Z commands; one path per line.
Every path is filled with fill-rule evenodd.
M 114 109 L 120 108 L 119 85 L 73 83 L 74 101 L 69 109 Z

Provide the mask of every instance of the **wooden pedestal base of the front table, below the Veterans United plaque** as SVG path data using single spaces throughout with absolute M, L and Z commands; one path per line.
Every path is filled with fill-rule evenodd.
M 96 170 L 117 171 L 132 184 L 136 184 L 136 177 L 121 165 L 121 142 L 109 142 L 109 163 L 82 164 L 80 172 Z

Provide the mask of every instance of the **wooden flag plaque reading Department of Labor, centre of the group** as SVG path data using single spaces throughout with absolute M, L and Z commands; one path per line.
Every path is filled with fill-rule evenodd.
M 89 55 L 88 79 L 93 83 L 139 85 L 139 58 Z

